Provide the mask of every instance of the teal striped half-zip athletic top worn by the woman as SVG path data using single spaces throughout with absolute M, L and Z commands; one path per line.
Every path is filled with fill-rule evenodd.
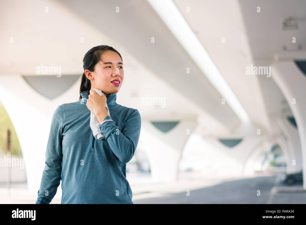
M 61 204 L 133 204 L 126 179 L 126 163 L 136 150 L 141 127 L 137 109 L 116 103 L 117 94 L 106 96 L 112 119 L 99 125 L 105 139 L 98 140 L 90 128 L 82 99 L 65 103 L 54 111 L 43 170 L 35 204 L 49 204 L 62 180 Z

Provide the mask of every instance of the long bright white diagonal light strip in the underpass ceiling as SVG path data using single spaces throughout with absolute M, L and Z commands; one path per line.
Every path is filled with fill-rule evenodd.
M 164 21 L 176 39 L 196 62 L 211 84 L 217 89 L 242 122 L 250 118 L 237 97 L 234 95 L 221 73 L 211 60 L 204 47 L 192 32 L 184 17 L 171 0 L 147 0 L 159 17 Z

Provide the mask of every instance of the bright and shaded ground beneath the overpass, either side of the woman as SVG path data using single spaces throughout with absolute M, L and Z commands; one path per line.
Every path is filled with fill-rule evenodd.
M 150 174 L 129 173 L 127 179 L 134 204 L 306 203 L 306 190 L 303 190 L 302 185 L 279 185 L 275 175 L 216 178 L 189 172 L 181 173 L 173 182 L 153 182 Z M 60 186 L 50 204 L 61 203 Z M 26 183 L 13 183 L 11 189 L 2 183 L 0 196 L 0 204 L 35 204 L 37 192 L 30 193 Z

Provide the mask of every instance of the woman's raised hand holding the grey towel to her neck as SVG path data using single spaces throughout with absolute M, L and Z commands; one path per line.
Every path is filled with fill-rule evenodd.
M 108 116 L 108 113 L 105 108 L 106 96 L 105 94 L 99 96 L 99 94 L 92 89 L 89 91 L 89 93 L 90 94 L 88 95 L 86 106 L 92 113 L 96 115 L 99 122 L 101 123 L 104 118 Z

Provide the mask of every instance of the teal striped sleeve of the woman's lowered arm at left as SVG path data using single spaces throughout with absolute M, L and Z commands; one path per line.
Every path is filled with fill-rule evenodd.
M 63 112 L 58 106 L 54 111 L 46 150 L 46 166 L 35 204 L 50 204 L 57 192 L 62 173 Z

